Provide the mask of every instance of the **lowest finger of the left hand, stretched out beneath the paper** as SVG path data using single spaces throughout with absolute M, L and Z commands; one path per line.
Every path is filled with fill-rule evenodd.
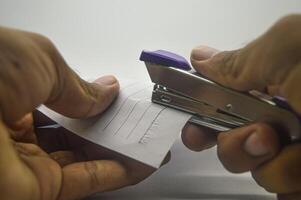
M 58 199 L 80 199 L 96 192 L 110 191 L 136 183 L 136 178 L 117 161 L 88 161 L 63 168 Z

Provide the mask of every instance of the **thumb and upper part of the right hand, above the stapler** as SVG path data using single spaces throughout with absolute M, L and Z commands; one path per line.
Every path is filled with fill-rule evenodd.
M 191 54 L 192 65 L 209 79 L 236 90 L 266 91 L 273 86 L 277 91 L 271 90 L 271 94 L 277 92 L 285 97 L 301 113 L 301 93 L 295 90 L 301 83 L 300 58 L 295 53 L 299 39 L 297 34 L 289 40 L 283 39 L 285 34 L 299 32 L 296 27 L 300 19 L 300 16 L 283 18 L 244 48 L 219 52 L 208 59 L 203 56 L 207 55 L 206 48 L 196 48 Z

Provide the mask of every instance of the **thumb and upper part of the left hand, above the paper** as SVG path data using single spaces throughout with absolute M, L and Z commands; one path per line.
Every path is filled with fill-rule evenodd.
M 92 116 L 118 93 L 113 76 L 95 83 L 82 80 L 43 36 L 1 28 L 0 42 L 0 104 L 6 122 L 21 119 L 41 103 L 69 117 Z

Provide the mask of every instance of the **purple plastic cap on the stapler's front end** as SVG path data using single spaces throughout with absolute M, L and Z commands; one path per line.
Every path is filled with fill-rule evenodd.
M 191 70 L 189 63 L 184 57 L 164 50 L 142 51 L 140 60 L 158 65 L 175 67 L 186 71 Z

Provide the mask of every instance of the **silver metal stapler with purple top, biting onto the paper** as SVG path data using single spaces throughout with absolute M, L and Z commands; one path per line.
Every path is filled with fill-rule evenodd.
M 168 51 L 142 51 L 140 60 L 154 83 L 152 102 L 191 113 L 190 123 L 223 132 L 266 122 L 281 130 L 290 143 L 301 139 L 300 117 L 283 99 L 223 87 Z

